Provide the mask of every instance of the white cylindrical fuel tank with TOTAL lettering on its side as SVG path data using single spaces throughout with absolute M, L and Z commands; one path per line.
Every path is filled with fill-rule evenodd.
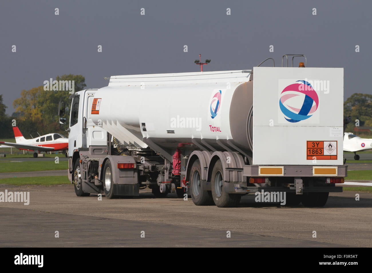
M 112 76 L 92 120 L 124 144 L 250 152 L 250 70 Z

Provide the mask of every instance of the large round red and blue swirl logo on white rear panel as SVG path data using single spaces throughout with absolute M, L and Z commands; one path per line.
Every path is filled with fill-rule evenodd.
M 302 95 L 304 94 L 304 95 Z M 297 104 L 286 103 L 287 100 L 304 96 L 304 100 L 290 100 L 292 103 L 297 101 Z M 300 102 L 300 103 L 298 103 Z M 299 122 L 301 120 L 307 120 L 317 111 L 319 106 L 319 98 L 317 92 L 307 81 L 299 80 L 294 84 L 286 86 L 280 93 L 279 107 L 284 118 L 292 123 Z

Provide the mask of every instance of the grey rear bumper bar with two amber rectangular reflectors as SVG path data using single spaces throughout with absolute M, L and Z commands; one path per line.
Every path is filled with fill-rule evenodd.
M 272 169 L 272 171 L 270 171 Z M 282 165 L 261 166 L 244 165 L 243 176 L 248 177 L 345 177 L 347 176 L 347 165 L 342 166 L 312 166 L 312 165 Z

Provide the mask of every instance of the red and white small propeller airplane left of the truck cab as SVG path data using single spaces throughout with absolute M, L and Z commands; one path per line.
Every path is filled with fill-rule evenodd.
M 64 154 L 67 157 L 68 139 L 61 134 L 52 133 L 43 136 L 39 135 L 39 137 L 32 139 L 25 139 L 18 127 L 13 127 L 13 132 L 16 138 L 16 143 L 0 141 L 0 146 L 34 151 L 35 153 L 33 153 L 33 157 L 38 157 L 38 152 L 40 151 L 64 151 Z

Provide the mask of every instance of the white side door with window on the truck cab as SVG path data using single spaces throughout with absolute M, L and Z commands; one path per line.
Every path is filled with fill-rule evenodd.
M 75 96 L 71 103 L 70 114 L 70 133 L 68 134 L 68 154 L 73 155 L 73 151 L 81 147 L 81 103 L 80 94 Z

